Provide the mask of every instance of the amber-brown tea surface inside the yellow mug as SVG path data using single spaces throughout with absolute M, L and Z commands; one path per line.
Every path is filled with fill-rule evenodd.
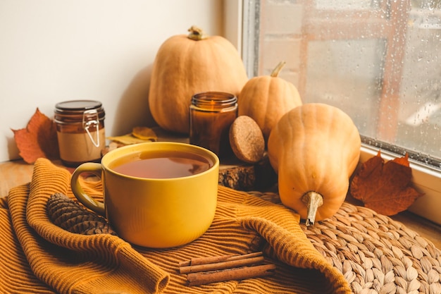
M 154 151 L 121 157 L 109 168 L 137 178 L 182 178 L 207 171 L 211 166 L 211 160 L 198 154 Z

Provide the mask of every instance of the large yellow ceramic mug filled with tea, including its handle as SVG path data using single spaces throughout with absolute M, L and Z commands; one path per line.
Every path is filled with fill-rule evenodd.
M 153 169 L 131 167 L 140 161 L 147 163 L 145 159 L 156 161 L 151 163 Z M 195 166 L 206 170 L 195 171 Z M 144 171 L 155 174 L 137 174 Z M 190 175 L 182 176 L 181 172 Z M 75 197 L 106 216 L 121 238 L 135 245 L 163 248 L 190 243 L 209 228 L 216 211 L 218 172 L 219 159 L 208 149 L 178 142 L 147 142 L 114 149 L 104 155 L 101 164 L 78 166 L 70 185 Z M 82 189 L 78 181 L 82 173 L 101 178 L 104 203 Z

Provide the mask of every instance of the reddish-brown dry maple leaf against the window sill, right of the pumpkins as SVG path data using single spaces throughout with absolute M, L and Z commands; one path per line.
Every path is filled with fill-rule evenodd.
M 409 156 L 384 162 L 380 151 L 366 161 L 352 179 L 352 197 L 379 214 L 391 216 L 403 212 L 423 196 L 411 187 Z

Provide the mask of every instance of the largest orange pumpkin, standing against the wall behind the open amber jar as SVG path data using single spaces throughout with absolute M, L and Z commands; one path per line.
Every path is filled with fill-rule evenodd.
M 149 89 L 149 108 L 161 128 L 189 133 L 190 101 L 194 94 L 228 92 L 236 96 L 247 73 L 235 47 L 221 36 L 207 36 L 198 27 L 175 35 L 159 48 Z

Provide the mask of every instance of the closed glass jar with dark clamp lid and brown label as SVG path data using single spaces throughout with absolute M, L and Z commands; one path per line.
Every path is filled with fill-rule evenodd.
M 56 104 L 54 121 L 60 158 L 66 166 L 99 161 L 106 147 L 105 112 L 101 102 L 71 100 Z

